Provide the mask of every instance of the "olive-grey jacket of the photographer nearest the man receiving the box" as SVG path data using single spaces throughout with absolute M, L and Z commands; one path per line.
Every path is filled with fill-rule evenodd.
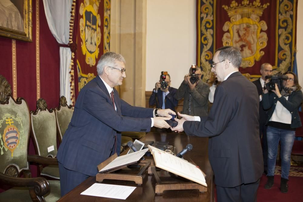
M 193 90 L 183 81 L 175 94 L 175 99 L 184 98 L 182 114 L 192 116 L 207 116 L 208 114 L 208 93 L 209 85 L 199 80 Z M 190 99 L 191 95 L 191 99 Z M 190 99 L 190 100 L 189 100 Z M 191 112 L 189 113 L 189 101 L 191 102 Z

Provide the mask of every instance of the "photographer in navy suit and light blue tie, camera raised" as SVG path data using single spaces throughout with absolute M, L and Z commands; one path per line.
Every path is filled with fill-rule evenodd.
M 156 108 L 171 109 L 175 111 L 178 100 L 174 98 L 177 91 L 176 88 L 170 87 L 170 75 L 167 72 L 160 75 L 160 80 L 155 84 L 155 88 L 149 98 L 149 105 L 156 104 Z

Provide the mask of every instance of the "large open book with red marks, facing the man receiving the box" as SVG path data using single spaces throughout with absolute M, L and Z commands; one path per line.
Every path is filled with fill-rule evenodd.
M 199 167 L 156 147 L 148 145 L 148 148 L 153 154 L 157 167 L 207 187 L 205 177 Z

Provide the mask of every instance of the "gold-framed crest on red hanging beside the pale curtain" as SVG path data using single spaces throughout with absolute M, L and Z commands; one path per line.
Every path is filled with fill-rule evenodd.
M 100 0 L 84 0 L 81 3 L 79 13 L 80 18 L 80 36 L 82 39 L 81 49 L 85 55 L 85 62 L 93 66 L 96 64 L 96 58 L 99 54 L 99 44 L 101 42 L 101 18 L 98 14 Z

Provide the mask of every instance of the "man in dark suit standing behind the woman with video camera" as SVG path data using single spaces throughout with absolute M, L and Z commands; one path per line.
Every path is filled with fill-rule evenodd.
M 264 63 L 261 65 L 260 73 L 261 77 L 258 80 L 253 81 L 253 83 L 256 85 L 258 90 L 258 95 L 260 99 L 259 104 L 259 135 L 260 135 L 260 141 L 262 143 L 262 153 L 263 153 L 263 164 L 264 164 L 264 172 L 267 174 L 267 138 L 266 138 L 266 130 L 267 126 L 266 120 L 267 120 L 267 111 L 264 110 L 262 107 L 262 93 L 265 85 L 265 76 L 271 75 L 272 72 L 272 66 L 269 63 Z

